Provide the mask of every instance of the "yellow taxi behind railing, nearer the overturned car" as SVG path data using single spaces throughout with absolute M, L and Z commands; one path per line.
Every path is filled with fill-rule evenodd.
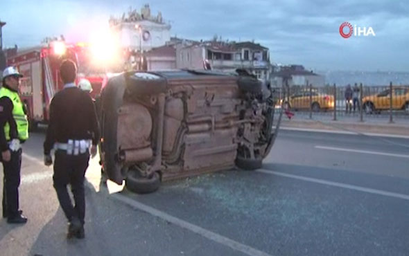
M 310 106 L 315 112 L 331 110 L 334 107 L 333 95 L 319 93 L 317 90 L 313 90 L 311 91 L 310 104 L 310 91 L 302 90 L 294 93 L 284 101 L 284 108 L 286 109 L 310 109 Z

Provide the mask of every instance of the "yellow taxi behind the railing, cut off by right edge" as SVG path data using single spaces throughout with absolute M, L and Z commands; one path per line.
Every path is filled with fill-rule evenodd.
M 390 89 L 385 89 L 380 93 L 366 96 L 362 99 L 365 113 L 374 113 L 381 110 L 390 109 Z M 392 109 L 402 109 L 409 113 L 409 89 L 408 87 L 392 87 Z

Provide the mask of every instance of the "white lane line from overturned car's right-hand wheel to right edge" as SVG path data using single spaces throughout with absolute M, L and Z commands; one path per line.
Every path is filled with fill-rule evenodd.
M 257 170 L 256 172 L 262 172 L 264 174 L 272 174 L 272 175 L 277 175 L 277 176 L 283 176 L 286 178 L 291 178 L 291 179 L 297 179 L 300 181 L 308 181 L 308 182 L 313 182 L 313 183 L 319 183 L 319 184 L 323 184 L 323 185 L 331 185 L 334 187 L 338 187 L 338 188 L 347 188 L 349 190 L 357 190 L 360 192 L 367 192 L 367 193 L 371 193 L 371 194 L 379 194 L 382 196 L 390 196 L 390 197 L 394 197 L 397 199 L 405 199 L 405 200 L 409 200 L 409 195 L 408 194 L 399 194 L 399 193 L 394 193 L 394 192 L 388 192 L 385 190 L 375 190 L 373 188 L 365 188 L 365 187 L 360 187 L 357 185 L 349 185 L 346 183 L 339 183 L 339 182 L 334 182 L 334 181 L 326 181 L 323 179 L 315 179 L 315 178 L 309 178 L 306 176 L 298 176 L 298 175 L 293 175 L 293 174 L 286 174 L 284 172 L 275 172 L 275 171 L 271 171 L 271 170 Z

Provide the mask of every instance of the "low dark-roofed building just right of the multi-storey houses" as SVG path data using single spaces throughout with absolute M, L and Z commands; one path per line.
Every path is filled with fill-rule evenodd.
M 272 73 L 271 84 L 275 87 L 306 86 L 312 84 L 314 87 L 322 87 L 325 84 L 325 77 L 307 71 L 302 65 L 281 66 L 277 72 Z

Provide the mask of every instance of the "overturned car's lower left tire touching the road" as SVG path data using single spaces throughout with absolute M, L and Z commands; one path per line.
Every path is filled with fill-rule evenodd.
M 137 194 L 148 194 L 155 192 L 160 186 L 160 175 L 154 172 L 150 178 L 143 177 L 138 171 L 128 171 L 125 179 L 125 185 L 128 190 Z

